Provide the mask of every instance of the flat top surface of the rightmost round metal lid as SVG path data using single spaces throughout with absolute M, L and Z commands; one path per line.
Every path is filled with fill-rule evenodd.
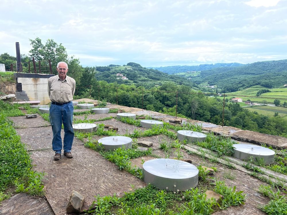
M 275 152 L 272 149 L 262 146 L 251 144 L 233 144 L 233 147 L 240 152 L 248 153 L 250 155 L 275 155 Z

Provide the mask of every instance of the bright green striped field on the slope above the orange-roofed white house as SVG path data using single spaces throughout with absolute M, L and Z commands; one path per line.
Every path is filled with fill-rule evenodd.
M 262 93 L 259 97 L 256 97 L 257 92 L 261 89 L 269 89 L 271 92 Z M 256 85 L 241 91 L 226 93 L 225 95 L 225 98 L 227 99 L 231 99 L 233 97 L 242 98 L 243 101 L 250 99 L 250 101 L 257 103 L 262 103 L 265 100 L 268 104 L 273 104 L 274 99 L 279 99 L 280 104 L 283 104 L 284 101 L 287 102 L 287 88 L 285 87 L 270 89 L 267 87 Z

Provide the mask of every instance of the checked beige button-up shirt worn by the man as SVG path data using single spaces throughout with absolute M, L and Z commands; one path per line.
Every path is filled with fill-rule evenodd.
M 73 100 L 76 81 L 66 75 L 66 79 L 61 81 L 59 75 L 50 77 L 48 80 L 48 94 L 51 101 L 65 103 Z

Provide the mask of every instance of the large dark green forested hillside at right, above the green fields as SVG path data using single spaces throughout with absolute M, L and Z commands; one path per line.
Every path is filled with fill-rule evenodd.
M 245 64 L 240 67 L 220 67 L 201 73 L 192 79 L 197 84 L 217 85 L 221 92 L 234 92 L 254 85 L 277 88 L 287 82 L 287 60 L 272 60 Z

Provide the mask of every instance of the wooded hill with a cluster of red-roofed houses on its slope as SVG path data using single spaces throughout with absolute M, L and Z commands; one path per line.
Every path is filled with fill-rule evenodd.
M 132 84 L 136 86 L 143 86 L 146 89 L 150 89 L 156 85 L 162 85 L 167 81 L 172 81 L 178 85 L 187 85 L 193 89 L 197 89 L 197 85 L 187 80 L 186 78 L 178 75 L 168 75 L 158 70 L 146 69 L 141 67 L 140 64 L 129 62 L 127 65 L 115 65 L 110 64 L 106 67 L 95 67 L 95 77 L 98 81 L 106 81 L 108 83 L 119 84 Z M 121 74 L 118 75 L 117 74 Z M 123 79 L 123 76 L 127 79 Z

